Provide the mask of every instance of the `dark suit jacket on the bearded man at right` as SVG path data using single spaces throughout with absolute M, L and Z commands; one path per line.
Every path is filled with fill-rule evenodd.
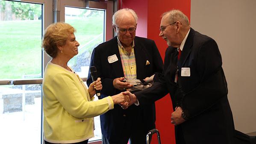
M 221 65 L 216 42 L 191 28 L 179 62 L 177 48 L 168 47 L 164 70 L 155 79 L 157 82 L 135 95 L 143 105 L 169 92 L 173 108 L 180 106 L 188 118 L 178 125 L 187 144 L 232 144 L 234 124 Z M 181 68 L 190 68 L 190 76 L 181 76 Z

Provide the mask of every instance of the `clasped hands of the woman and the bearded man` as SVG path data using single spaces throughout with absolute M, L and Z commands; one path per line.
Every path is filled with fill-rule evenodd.
M 127 109 L 133 103 L 137 102 L 137 97 L 129 91 L 121 92 L 112 96 L 114 104 L 119 104 L 123 109 Z

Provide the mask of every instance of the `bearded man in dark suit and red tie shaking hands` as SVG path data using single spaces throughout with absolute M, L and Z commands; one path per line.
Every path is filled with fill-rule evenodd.
M 163 73 L 144 91 L 124 92 L 129 104 L 153 103 L 169 92 L 176 144 L 232 144 L 234 123 L 217 43 L 190 28 L 179 10 L 163 14 L 159 36 L 169 45 Z

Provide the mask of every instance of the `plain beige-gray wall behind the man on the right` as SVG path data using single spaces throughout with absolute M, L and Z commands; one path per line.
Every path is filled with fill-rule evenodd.
M 217 41 L 235 129 L 256 132 L 256 0 L 191 0 L 191 27 Z

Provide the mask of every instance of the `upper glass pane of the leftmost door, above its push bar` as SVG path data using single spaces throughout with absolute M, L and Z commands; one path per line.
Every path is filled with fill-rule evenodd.
M 0 79 L 41 78 L 42 4 L 0 0 L 0 9 Z

